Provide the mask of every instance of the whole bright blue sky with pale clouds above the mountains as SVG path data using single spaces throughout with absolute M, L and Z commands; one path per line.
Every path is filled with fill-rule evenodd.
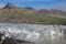
M 66 10 L 66 0 L 0 0 L 0 8 L 4 7 L 8 2 L 18 7 Z

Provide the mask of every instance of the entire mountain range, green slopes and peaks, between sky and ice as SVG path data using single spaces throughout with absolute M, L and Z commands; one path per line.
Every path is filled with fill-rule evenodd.
M 66 24 L 66 12 L 61 10 L 36 10 L 31 7 L 15 7 L 8 3 L 0 9 L 0 22 L 34 23 L 34 24 Z

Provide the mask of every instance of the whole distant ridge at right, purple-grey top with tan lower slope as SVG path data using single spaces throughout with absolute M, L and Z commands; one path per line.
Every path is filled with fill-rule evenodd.
M 44 14 L 44 15 L 51 15 L 51 16 L 57 16 L 57 18 L 66 18 L 66 12 L 65 11 L 62 11 L 62 10 L 41 9 L 37 12 L 41 13 L 41 14 Z

